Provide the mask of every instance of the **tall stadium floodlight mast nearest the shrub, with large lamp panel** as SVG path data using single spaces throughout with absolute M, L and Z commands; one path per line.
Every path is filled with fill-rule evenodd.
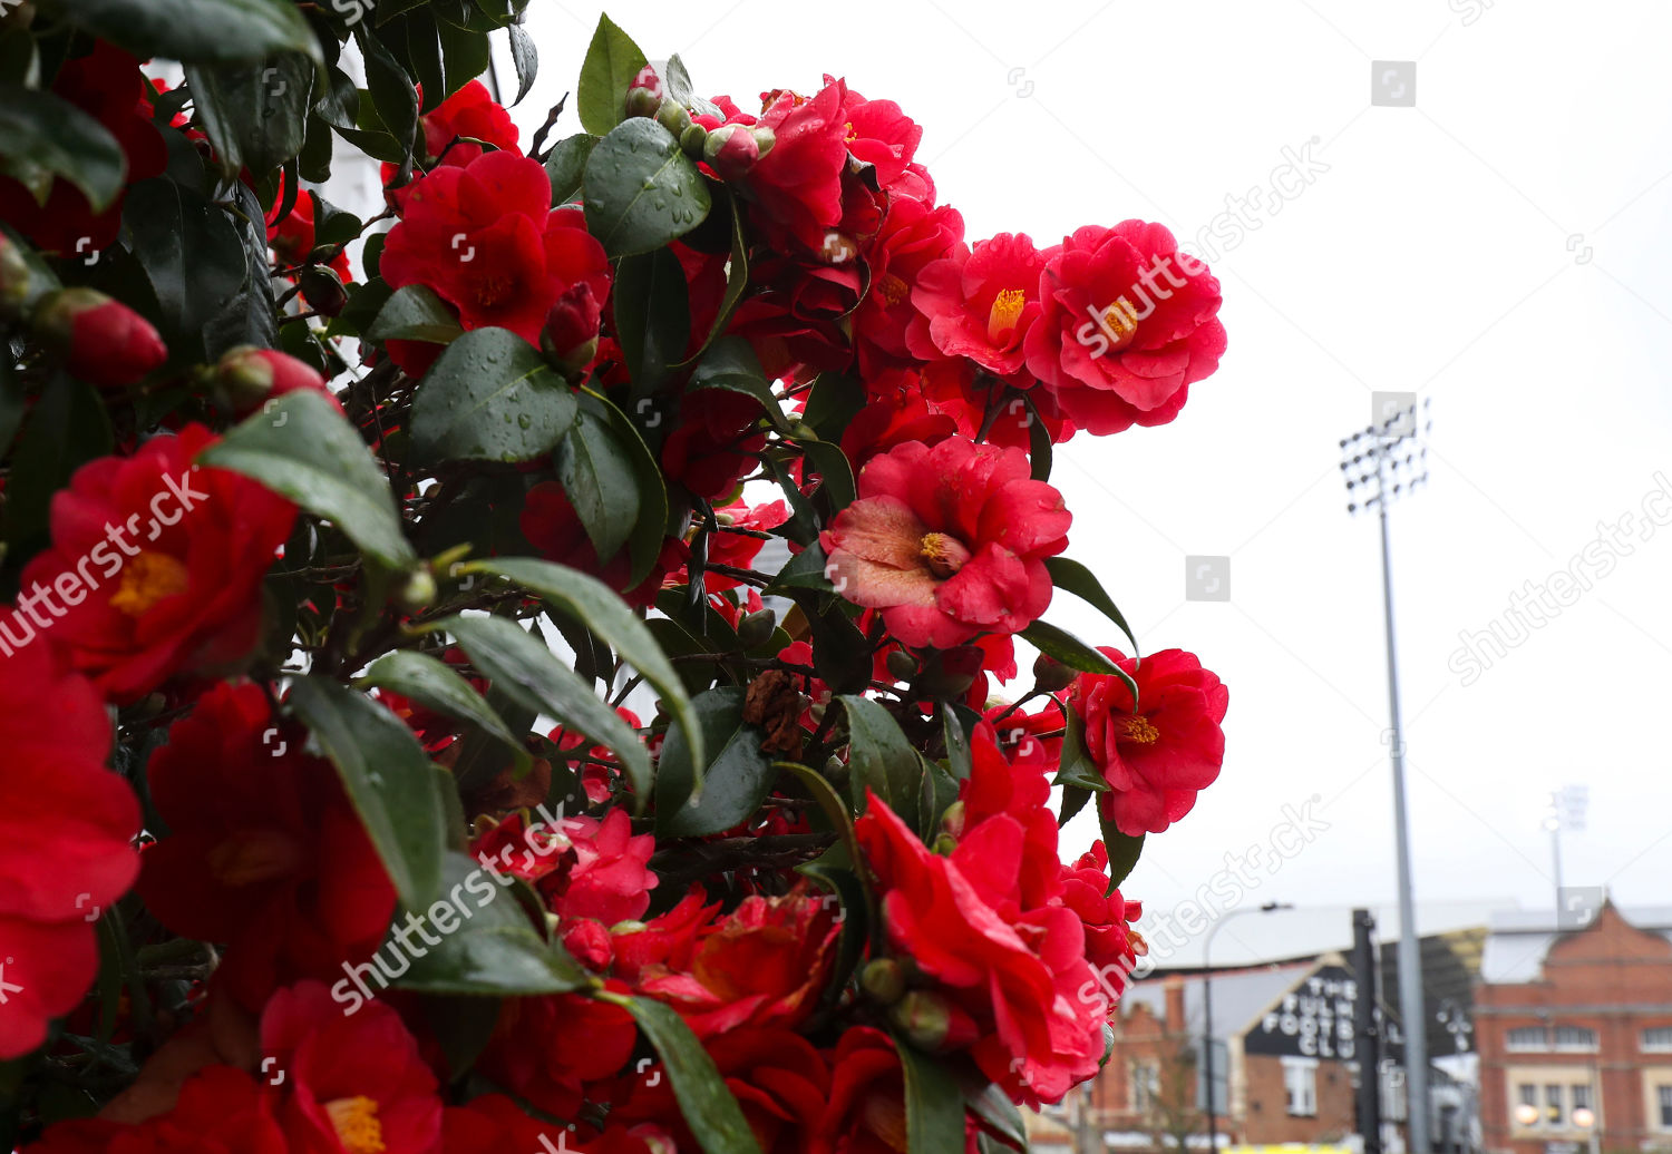
M 1399 873 L 1399 1010 L 1404 1017 L 1404 1081 L 1411 1149 L 1428 1154 L 1428 1014 L 1423 1009 L 1423 955 L 1416 937 L 1416 898 L 1411 892 L 1411 837 L 1404 805 L 1404 733 L 1399 721 L 1399 668 L 1393 641 L 1393 563 L 1388 546 L 1388 504 L 1428 481 L 1426 406 L 1421 414 L 1416 394 L 1409 401 L 1394 399 L 1374 416 L 1363 433 L 1341 441 L 1341 473 L 1348 484 L 1348 513 L 1366 513 L 1374 506 L 1381 521 L 1381 606 L 1388 643 L 1388 720 L 1384 735 L 1393 763 L 1393 825 Z M 1381 401 L 1383 397 L 1376 397 Z M 1418 419 L 1423 428 L 1418 429 Z

